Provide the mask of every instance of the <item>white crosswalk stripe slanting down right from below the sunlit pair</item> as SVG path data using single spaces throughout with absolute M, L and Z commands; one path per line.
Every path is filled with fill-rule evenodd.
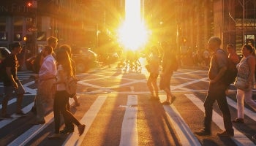
M 165 95 L 159 95 L 160 101 L 165 101 Z M 167 117 L 170 119 L 170 122 L 173 124 L 173 128 L 177 132 L 178 138 L 180 139 L 181 145 L 201 145 L 197 137 L 193 134 L 185 120 L 182 118 L 176 107 L 171 104 L 170 106 L 164 105 L 165 112 Z

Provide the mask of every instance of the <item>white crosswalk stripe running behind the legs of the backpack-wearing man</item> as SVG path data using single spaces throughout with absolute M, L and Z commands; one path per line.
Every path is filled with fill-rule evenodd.
M 190 99 L 190 101 L 192 101 L 192 103 L 194 103 L 200 110 L 202 110 L 203 112 L 205 111 L 203 107 L 203 101 L 200 101 L 200 99 L 198 99 L 194 94 L 185 94 L 185 96 L 187 96 L 187 98 Z M 216 123 L 216 125 L 219 126 L 219 128 L 225 130 L 222 116 L 214 110 L 212 121 Z M 252 142 L 243 133 L 238 131 L 235 127 L 233 127 L 233 129 L 235 132 L 235 136 L 230 138 L 233 140 L 233 142 L 236 143 L 236 145 L 255 145 L 254 142 Z

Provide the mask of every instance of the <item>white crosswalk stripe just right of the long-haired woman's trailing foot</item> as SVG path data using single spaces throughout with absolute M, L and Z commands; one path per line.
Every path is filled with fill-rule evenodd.
M 80 120 L 80 123 L 86 124 L 86 129 L 83 134 L 79 137 L 78 128 L 75 128 L 75 131 L 72 134 L 69 134 L 63 145 L 81 145 L 84 137 L 86 137 L 86 134 L 91 127 L 91 124 L 94 122 L 94 119 L 96 118 L 107 97 L 108 96 L 98 96 L 96 101 L 94 101 L 94 104 L 91 105 L 90 109 L 86 112 L 85 115 L 83 115 L 83 118 Z

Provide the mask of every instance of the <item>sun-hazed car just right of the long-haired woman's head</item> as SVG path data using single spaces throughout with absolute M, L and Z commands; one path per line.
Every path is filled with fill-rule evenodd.
M 72 59 L 75 61 L 77 72 L 88 72 L 98 65 L 97 53 L 89 47 L 72 47 Z

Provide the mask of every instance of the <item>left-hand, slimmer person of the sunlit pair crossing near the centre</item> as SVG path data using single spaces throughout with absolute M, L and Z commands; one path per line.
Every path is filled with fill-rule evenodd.
M 148 89 L 151 93 L 150 100 L 159 100 L 157 77 L 159 75 L 159 51 L 156 46 L 151 47 L 148 56 L 149 77 L 147 81 Z

